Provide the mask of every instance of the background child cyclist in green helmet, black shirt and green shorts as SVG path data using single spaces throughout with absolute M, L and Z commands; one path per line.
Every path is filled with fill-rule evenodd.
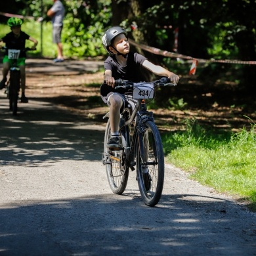
M 25 49 L 26 40 L 30 40 L 34 43 L 33 47 L 31 47 L 33 50 L 35 50 L 35 47 L 37 46 L 37 40 L 31 37 L 30 35 L 24 33 L 21 31 L 21 25 L 23 23 L 23 20 L 20 18 L 9 18 L 7 21 L 8 26 L 11 27 L 10 33 L 7 33 L 2 39 L 0 39 L 0 43 L 5 43 L 5 46 L 7 49 L 16 49 L 16 50 L 23 50 Z M 0 47 L 2 47 L 0 45 Z M 7 81 L 7 74 L 9 72 L 10 66 L 12 64 L 13 60 L 10 60 L 8 58 L 8 50 L 5 53 L 5 56 L 3 58 L 3 79 L 0 82 L 0 90 L 5 87 L 5 83 Z M 20 98 L 20 102 L 27 103 L 28 98 L 25 96 L 25 87 L 26 87 L 26 71 L 25 71 L 25 61 L 26 61 L 26 52 L 20 51 L 20 56 L 17 60 L 17 65 L 20 68 L 20 85 L 22 90 L 22 96 Z

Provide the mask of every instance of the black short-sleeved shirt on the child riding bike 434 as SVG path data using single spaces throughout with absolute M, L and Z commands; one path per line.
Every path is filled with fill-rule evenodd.
M 114 79 L 129 80 L 134 83 L 139 83 L 144 81 L 144 76 L 142 75 L 141 68 L 146 57 L 139 53 L 128 53 L 126 66 L 121 66 L 117 60 L 116 56 L 109 56 L 104 62 L 104 69 L 112 71 L 112 77 Z M 108 98 L 108 96 L 114 92 L 114 88 L 106 83 L 103 83 L 100 87 L 100 95 L 102 98 Z M 124 89 L 118 89 L 117 93 L 125 93 Z M 105 101 L 105 100 L 104 100 Z

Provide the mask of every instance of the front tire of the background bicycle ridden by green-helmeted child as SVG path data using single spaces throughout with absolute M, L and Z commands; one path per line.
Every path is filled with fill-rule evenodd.
M 16 116 L 18 112 L 18 93 L 20 91 L 19 70 L 11 70 L 9 86 L 9 108 L 12 111 L 12 115 Z

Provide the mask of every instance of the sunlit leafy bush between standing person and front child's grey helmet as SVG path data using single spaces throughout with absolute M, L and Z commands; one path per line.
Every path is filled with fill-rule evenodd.
M 102 47 L 102 35 L 110 24 L 110 0 L 89 3 L 66 1 L 67 14 L 64 20 L 63 41 L 66 56 L 95 57 L 106 54 Z

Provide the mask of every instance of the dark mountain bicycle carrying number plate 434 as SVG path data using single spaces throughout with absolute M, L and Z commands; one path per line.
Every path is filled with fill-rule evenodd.
M 119 147 L 108 149 L 111 137 L 110 120 L 106 124 L 104 153 L 102 162 L 106 166 L 108 183 L 114 194 L 122 194 L 127 186 L 129 169 L 137 170 L 140 195 L 148 206 L 155 206 L 161 198 L 164 181 L 164 155 L 160 132 L 154 122 L 153 112 L 149 112 L 146 102 L 154 98 L 158 86 L 170 83 L 167 77 L 150 83 L 133 83 L 116 80 L 116 89 L 129 89 L 133 95 L 135 108 L 131 105 L 120 114 Z M 103 118 L 109 117 L 107 113 Z

